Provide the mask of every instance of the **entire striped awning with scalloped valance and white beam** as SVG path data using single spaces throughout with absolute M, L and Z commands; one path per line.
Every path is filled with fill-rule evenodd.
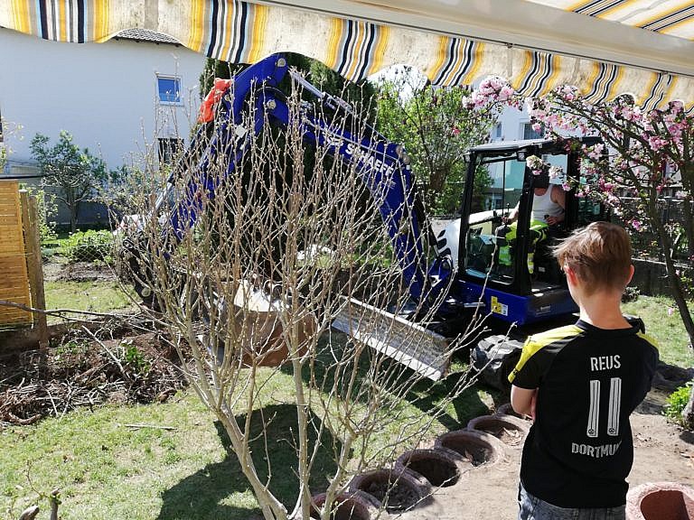
M 594 102 L 629 93 L 644 107 L 690 108 L 693 10 L 675 0 L 5 0 L 0 25 L 59 42 L 137 27 L 220 60 L 299 52 L 352 80 L 405 63 L 436 85 L 497 75 L 528 96 L 572 84 Z

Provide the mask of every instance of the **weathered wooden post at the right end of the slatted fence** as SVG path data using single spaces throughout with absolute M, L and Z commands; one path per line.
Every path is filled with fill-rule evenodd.
M 32 295 L 32 307 L 45 310 L 46 297 L 43 291 L 43 261 L 41 255 L 41 237 L 38 228 L 38 209 L 36 197 L 29 197 L 26 190 L 20 190 L 22 200 L 22 220 L 24 224 L 24 247 L 29 274 L 29 288 Z M 48 348 L 48 323 L 46 315 L 36 312 L 33 323 L 38 334 L 40 348 Z

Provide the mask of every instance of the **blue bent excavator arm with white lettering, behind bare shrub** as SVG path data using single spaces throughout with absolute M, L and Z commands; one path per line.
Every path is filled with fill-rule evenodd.
M 344 112 L 346 116 L 354 116 L 352 107 L 344 100 L 315 88 L 294 70 L 287 70 L 286 60 L 281 55 L 270 56 L 250 66 L 230 80 L 226 91 L 217 96 L 218 107 L 209 144 L 193 171 L 188 172 L 190 180 L 186 196 L 169 211 L 166 228 L 180 240 L 195 224 L 203 204 L 200 191 L 204 191 L 205 199 L 211 199 L 223 180 L 223 176 L 217 172 L 211 174 L 211 169 L 218 164 L 218 157 L 228 157 L 226 174 L 230 175 L 239 167 L 254 136 L 264 125 L 298 128 L 307 143 L 324 147 L 355 167 L 364 186 L 380 203 L 380 216 L 388 229 L 410 293 L 415 300 L 419 300 L 426 290 L 423 236 L 419 216 L 414 211 L 415 183 L 403 147 L 390 143 L 365 124 L 359 125 L 365 131 L 361 135 L 354 135 L 346 125 L 333 124 L 339 117 L 331 116 L 328 119 L 322 116 L 323 110 L 312 109 L 310 105 L 303 107 L 298 115 L 293 115 L 285 96 L 277 88 L 286 74 L 291 74 L 295 81 L 314 95 L 317 103 L 330 109 L 331 113 Z M 202 112 L 209 116 L 207 106 L 203 106 Z M 299 120 L 292 121 L 294 116 Z M 204 129 L 196 138 L 200 138 L 202 132 Z M 194 144 L 191 148 L 194 148 Z M 176 174 L 179 173 L 174 171 L 173 175 Z M 174 178 L 170 180 L 167 190 L 173 190 L 173 187 Z M 156 211 L 163 209 L 167 198 L 167 193 L 159 196 Z

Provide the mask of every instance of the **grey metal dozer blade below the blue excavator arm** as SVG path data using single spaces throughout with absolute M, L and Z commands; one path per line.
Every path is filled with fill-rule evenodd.
M 452 353 L 448 340 L 388 311 L 344 298 L 333 328 L 429 379 L 438 381 L 447 374 Z

